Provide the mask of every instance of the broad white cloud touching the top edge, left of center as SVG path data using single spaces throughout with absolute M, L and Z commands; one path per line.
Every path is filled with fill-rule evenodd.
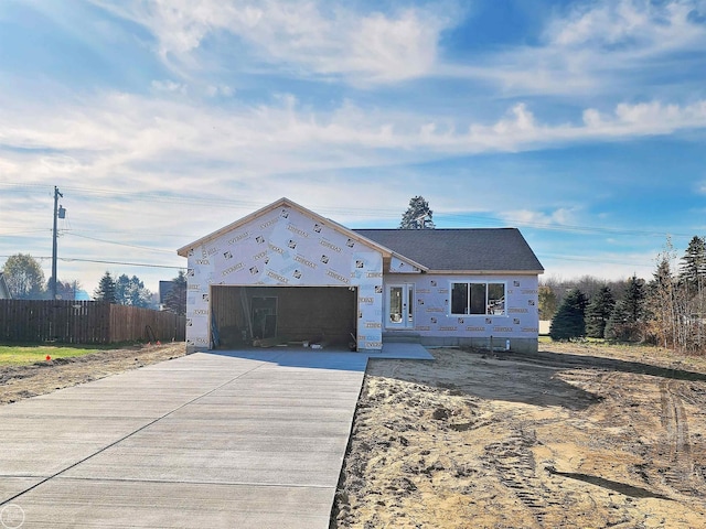
M 428 73 L 440 34 L 454 25 L 458 11 L 448 2 L 434 10 L 359 13 L 345 3 L 312 0 L 94 1 L 146 26 L 171 64 L 196 68 L 194 57 L 204 41 L 229 35 L 236 37 L 232 45 L 246 43 L 265 63 L 367 83 Z

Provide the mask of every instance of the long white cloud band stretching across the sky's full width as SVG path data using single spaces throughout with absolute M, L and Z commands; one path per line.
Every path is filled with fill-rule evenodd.
M 442 159 L 449 154 L 520 151 L 543 145 L 667 134 L 706 128 L 706 100 L 691 105 L 620 104 L 612 112 L 584 111 L 582 122 L 542 122 L 524 104 L 491 123 L 453 125 L 441 116 L 367 110 L 343 104 L 331 114 L 301 108 L 291 96 L 271 105 L 222 108 L 189 100 L 110 94 L 87 106 L 0 106 L 0 144 L 17 150 L 25 179 L 47 171 L 106 179 L 133 175 L 161 186 L 161 175 L 238 180 L 267 174 L 363 168 Z M 443 123 L 442 126 L 437 123 Z M 451 126 L 449 126 L 451 123 Z M 458 131 L 457 131 L 458 128 Z M 466 131 L 463 131 L 466 130 Z M 29 150 L 28 152 L 25 152 Z M 34 156 L 32 150 L 55 154 Z M 218 166 L 221 169 L 212 169 Z M 226 169 L 228 168 L 228 169 Z M 151 176 L 152 175 L 152 176 Z

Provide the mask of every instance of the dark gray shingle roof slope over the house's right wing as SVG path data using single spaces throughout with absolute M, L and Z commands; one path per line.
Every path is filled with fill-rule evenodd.
M 429 270 L 543 271 L 516 228 L 354 229 Z

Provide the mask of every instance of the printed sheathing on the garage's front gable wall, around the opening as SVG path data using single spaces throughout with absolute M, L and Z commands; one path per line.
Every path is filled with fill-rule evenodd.
M 188 260 L 189 350 L 212 346 L 212 285 L 356 289 L 357 348 L 382 348 L 383 256 L 334 223 L 282 206 L 191 248 Z

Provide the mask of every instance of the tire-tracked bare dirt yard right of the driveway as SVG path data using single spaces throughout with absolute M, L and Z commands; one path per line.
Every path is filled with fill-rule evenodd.
M 706 361 L 541 349 L 372 360 L 331 528 L 706 527 Z

